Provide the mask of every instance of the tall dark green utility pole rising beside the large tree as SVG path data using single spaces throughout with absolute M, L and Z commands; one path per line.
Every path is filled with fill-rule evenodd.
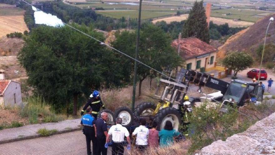
M 138 35 L 137 35 L 137 44 L 136 44 L 136 55 L 135 59 L 138 59 L 138 46 L 139 46 L 139 31 L 140 31 L 140 18 L 141 18 L 141 3 L 142 0 L 139 0 L 139 10 L 138 10 Z M 135 60 L 135 69 L 134 69 L 134 83 L 133 83 L 133 98 L 132 98 L 132 111 L 135 109 L 135 99 L 136 99 L 136 82 L 137 82 L 137 61 Z

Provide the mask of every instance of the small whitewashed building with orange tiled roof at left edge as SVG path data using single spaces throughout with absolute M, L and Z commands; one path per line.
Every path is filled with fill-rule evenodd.
M 12 80 L 0 79 L 0 107 L 22 106 L 20 83 Z

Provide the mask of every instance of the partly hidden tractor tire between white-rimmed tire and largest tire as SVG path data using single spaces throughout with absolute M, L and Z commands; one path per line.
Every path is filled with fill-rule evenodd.
M 134 116 L 148 116 L 152 115 L 157 106 L 151 102 L 144 102 L 135 108 Z

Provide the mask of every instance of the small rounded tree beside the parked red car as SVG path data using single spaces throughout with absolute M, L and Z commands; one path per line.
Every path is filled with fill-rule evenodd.
M 245 70 L 252 65 L 253 58 L 244 52 L 234 51 L 227 54 L 222 63 L 234 71 L 234 78 L 236 78 L 239 71 Z

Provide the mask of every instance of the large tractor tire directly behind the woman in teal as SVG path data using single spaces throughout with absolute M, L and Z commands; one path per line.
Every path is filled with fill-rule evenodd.
M 175 130 L 179 130 L 180 125 L 183 123 L 178 110 L 172 107 L 163 108 L 158 111 L 154 121 L 158 123 L 158 130 L 164 128 L 166 121 L 171 121 Z

